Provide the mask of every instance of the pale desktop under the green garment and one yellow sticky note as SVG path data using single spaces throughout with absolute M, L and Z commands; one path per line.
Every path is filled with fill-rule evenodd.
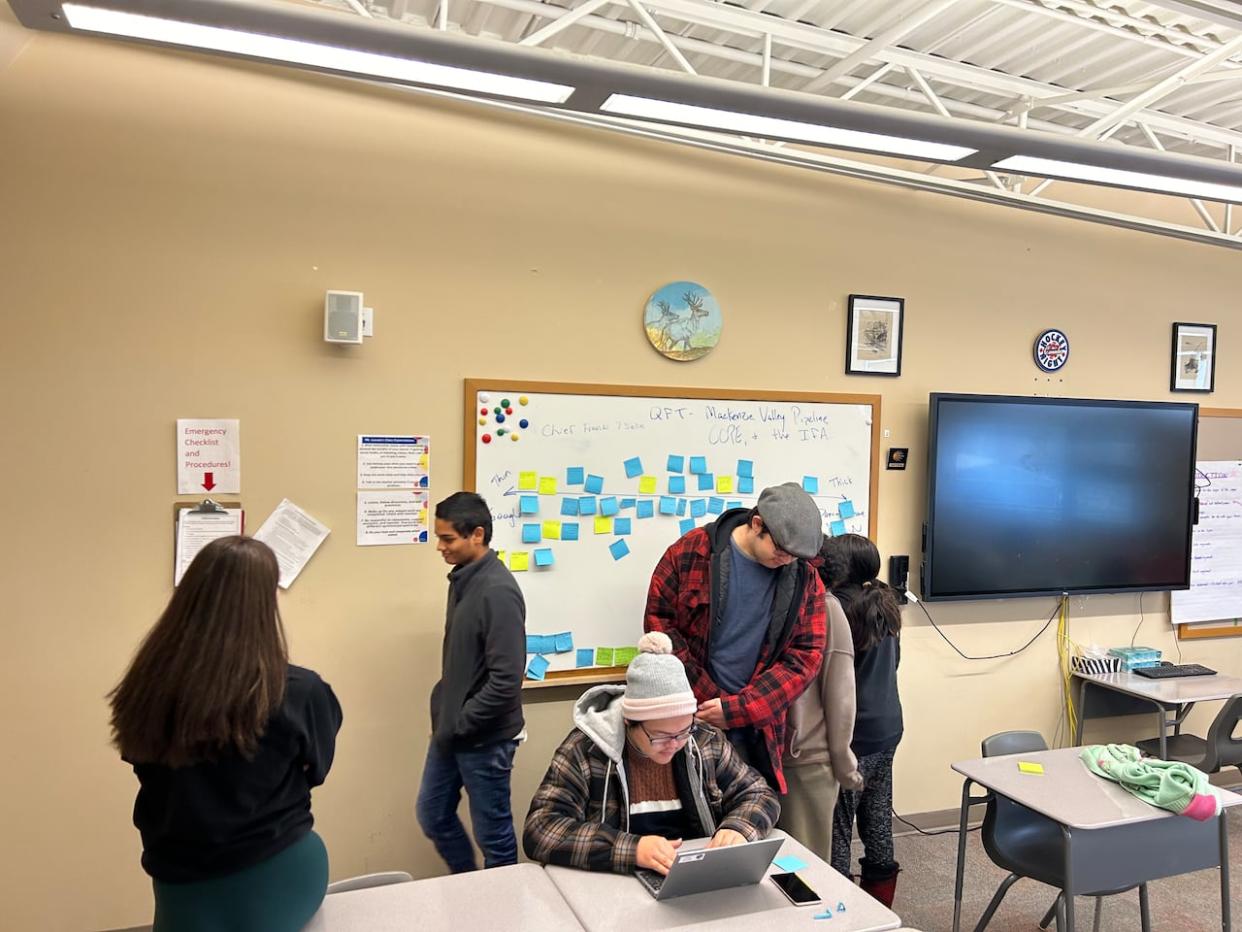
M 1002 797 L 1047 815 L 1072 829 L 1107 829 L 1115 825 L 1177 818 L 1148 805 L 1112 780 L 1097 777 L 1078 759 L 1082 748 L 1036 751 L 1004 757 L 959 761 L 953 769 Z M 1043 764 L 1042 774 L 1022 773 L 1018 761 Z M 1242 804 L 1242 797 L 1220 790 L 1225 806 Z

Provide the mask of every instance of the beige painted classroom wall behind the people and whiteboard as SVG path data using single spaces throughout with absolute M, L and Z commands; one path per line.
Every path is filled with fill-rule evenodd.
M 169 594 L 176 418 L 241 419 L 251 529 L 283 497 L 333 528 L 282 611 L 293 659 L 345 708 L 315 793 L 339 877 L 441 869 L 412 800 L 446 568 L 430 546 L 354 546 L 354 437 L 430 434 L 447 495 L 463 378 L 881 393 L 884 446 L 913 462 L 881 472 L 879 541 L 915 564 L 929 391 L 1169 399 L 1170 322 L 1192 319 L 1221 326 L 1210 403 L 1242 406 L 1242 263 L 1222 249 L 51 35 L 0 72 L 0 134 L 5 927 L 149 920 L 104 693 Z M 640 317 L 686 277 L 713 290 L 725 329 L 678 364 Z M 364 291 L 378 336 L 324 344 L 325 288 Z M 907 298 L 899 379 L 842 374 L 850 292 Z M 1047 326 L 1073 340 L 1052 378 L 1031 362 Z M 930 611 L 982 655 L 1053 608 Z M 1167 598 L 1143 608 L 1138 640 L 1171 650 Z M 1129 642 L 1139 599 L 1074 598 L 1071 619 L 1079 641 Z M 956 805 L 949 762 L 985 734 L 1052 737 L 1051 629 L 969 662 L 910 606 L 904 642 L 899 811 Z M 1240 647 L 1182 654 L 1237 670 Z M 529 695 L 519 819 L 571 698 Z

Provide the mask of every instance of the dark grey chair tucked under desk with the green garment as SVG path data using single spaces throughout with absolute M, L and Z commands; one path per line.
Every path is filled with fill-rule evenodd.
M 1001 732 L 984 738 L 984 757 L 999 757 L 1001 754 L 1021 754 L 1028 751 L 1047 751 L 1048 744 L 1038 732 Z M 1037 880 L 1051 887 L 1062 890 L 1066 885 L 1063 874 L 1064 865 L 1064 835 L 1061 825 L 1047 816 L 1040 815 L 1025 805 L 1006 799 L 1005 797 L 989 793 L 987 809 L 984 813 L 984 826 L 981 839 L 984 850 L 992 862 L 1007 870 L 1010 875 L 1001 881 L 996 889 L 987 908 L 975 926 L 975 932 L 982 932 L 991 922 L 1001 900 L 1022 877 Z M 1139 884 L 1139 913 L 1143 921 L 1143 932 L 1151 932 L 1151 916 L 1148 910 L 1148 885 Z M 1133 890 L 1134 885 L 1118 887 L 1117 890 L 1090 890 L 1087 896 L 1095 897 L 1095 921 L 1092 926 L 1094 932 L 1099 932 L 1100 912 L 1105 896 L 1123 893 Z M 1056 917 L 1057 928 L 1064 928 L 1064 893 L 1058 892 L 1048 912 L 1040 921 L 1040 928 L 1047 928 Z

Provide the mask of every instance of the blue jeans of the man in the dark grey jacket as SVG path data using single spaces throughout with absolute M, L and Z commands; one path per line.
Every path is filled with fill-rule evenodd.
M 474 849 L 457 818 L 462 787 L 469 797 L 469 820 L 474 841 L 483 851 L 483 866 L 518 862 L 518 839 L 513 834 L 509 805 L 509 777 L 517 749 L 515 741 L 498 741 L 468 751 L 441 751 L 433 743 L 427 748 L 419 788 L 419 825 L 453 874 L 478 870 Z

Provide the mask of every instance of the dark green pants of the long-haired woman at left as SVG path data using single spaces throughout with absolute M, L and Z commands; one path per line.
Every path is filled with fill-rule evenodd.
M 309 831 L 243 871 L 154 887 L 153 932 L 297 932 L 323 902 L 328 850 Z

